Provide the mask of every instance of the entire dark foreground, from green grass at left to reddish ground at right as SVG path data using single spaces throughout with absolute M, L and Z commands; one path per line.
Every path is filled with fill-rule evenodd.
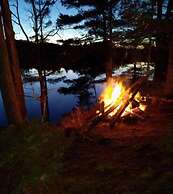
M 2 194 L 172 194 L 173 131 L 101 144 L 32 122 L 0 133 Z

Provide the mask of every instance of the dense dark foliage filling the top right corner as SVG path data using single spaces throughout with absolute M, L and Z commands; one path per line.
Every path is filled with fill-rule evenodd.
M 157 41 L 158 37 L 165 37 L 169 33 L 168 20 L 172 20 L 170 10 L 171 1 L 134 0 L 124 1 L 120 15 L 126 33 L 123 38 L 129 44 L 148 43 L 149 40 Z M 167 26 L 164 28 L 164 26 Z M 160 41 L 160 39 L 159 39 Z

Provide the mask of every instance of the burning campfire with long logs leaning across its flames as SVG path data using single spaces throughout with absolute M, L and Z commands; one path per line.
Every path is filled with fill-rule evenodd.
M 148 75 L 143 76 L 129 86 L 125 81 L 109 79 L 100 95 L 96 116 L 87 124 L 86 131 L 90 131 L 104 119 L 108 120 L 111 128 L 127 117 L 144 119 L 147 98 L 139 91 L 147 79 Z

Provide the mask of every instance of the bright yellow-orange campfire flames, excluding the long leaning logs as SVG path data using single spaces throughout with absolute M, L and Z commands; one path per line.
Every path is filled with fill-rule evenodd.
M 127 88 L 123 81 L 115 81 L 111 78 L 100 95 L 99 103 L 101 106 L 100 110 L 97 110 L 96 113 L 101 116 L 108 111 L 108 117 L 112 118 L 132 96 L 133 92 L 130 88 Z M 138 113 L 144 112 L 146 107 L 146 97 L 143 97 L 138 91 L 122 111 L 120 117 L 128 115 L 142 118 Z

